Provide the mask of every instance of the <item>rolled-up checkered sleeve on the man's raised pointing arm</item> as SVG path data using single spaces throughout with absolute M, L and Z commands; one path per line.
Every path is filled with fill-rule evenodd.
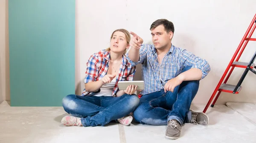
M 141 46 L 140 46 L 140 57 L 139 57 L 139 61 L 137 61 L 137 62 L 134 62 L 134 61 L 132 61 L 131 59 L 130 59 L 130 57 L 129 57 L 129 50 L 127 51 L 127 53 L 126 53 L 126 59 L 128 60 L 128 62 L 129 63 L 131 63 L 131 65 L 134 67 L 134 66 L 136 66 L 137 64 L 142 64 L 144 61 L 145 61 L 145 59 L 147 58 L 147 51 L 146 51 L 146 47 L 147 45 L 146 44 L 142 44 Z

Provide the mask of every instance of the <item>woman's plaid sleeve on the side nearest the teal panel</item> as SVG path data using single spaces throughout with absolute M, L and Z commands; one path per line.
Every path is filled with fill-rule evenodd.
M 90 56 L 88 62 L 86 63 L 87 69 L 85 72 L 84 83 L 88 83 L 90 81 L 96 81 L 99 73 L 99 59 L 96 55 Z

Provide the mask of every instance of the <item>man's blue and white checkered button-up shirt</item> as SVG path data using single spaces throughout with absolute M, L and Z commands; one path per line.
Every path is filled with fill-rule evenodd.
M 206 60 L 174 45 L 163 57 L 161 64 L 158 63 L 154 45 L 149 44 L 141 45 L 138 62 L 131 61 L 128 52 L 126 58 L 132 66 L 142 64 L 142 79 L 145 84 L 144 90 L 141 92 L 142 95 L 164 89 L 166 82 L 178 76 L 186 66 L 200 69 L 203 73 L 201 79 L 204 79 L 210 71 L 210 66 Z

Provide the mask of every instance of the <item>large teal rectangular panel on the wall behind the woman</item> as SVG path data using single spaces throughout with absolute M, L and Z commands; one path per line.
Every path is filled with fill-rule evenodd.
M 11 106 L 75 93 L 75 0 L 9 0 Z

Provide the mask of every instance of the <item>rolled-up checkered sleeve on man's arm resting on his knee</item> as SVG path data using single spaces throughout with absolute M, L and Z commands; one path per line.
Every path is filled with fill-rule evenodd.
M 195 56 L 187 50 L 181 51 L 181 60 L 185 67 L 192 66 L 191 68 L 200 69 L 203 73 L 201 79 L 204 79 L 211 70 L 209 63 L 205 59 Z

